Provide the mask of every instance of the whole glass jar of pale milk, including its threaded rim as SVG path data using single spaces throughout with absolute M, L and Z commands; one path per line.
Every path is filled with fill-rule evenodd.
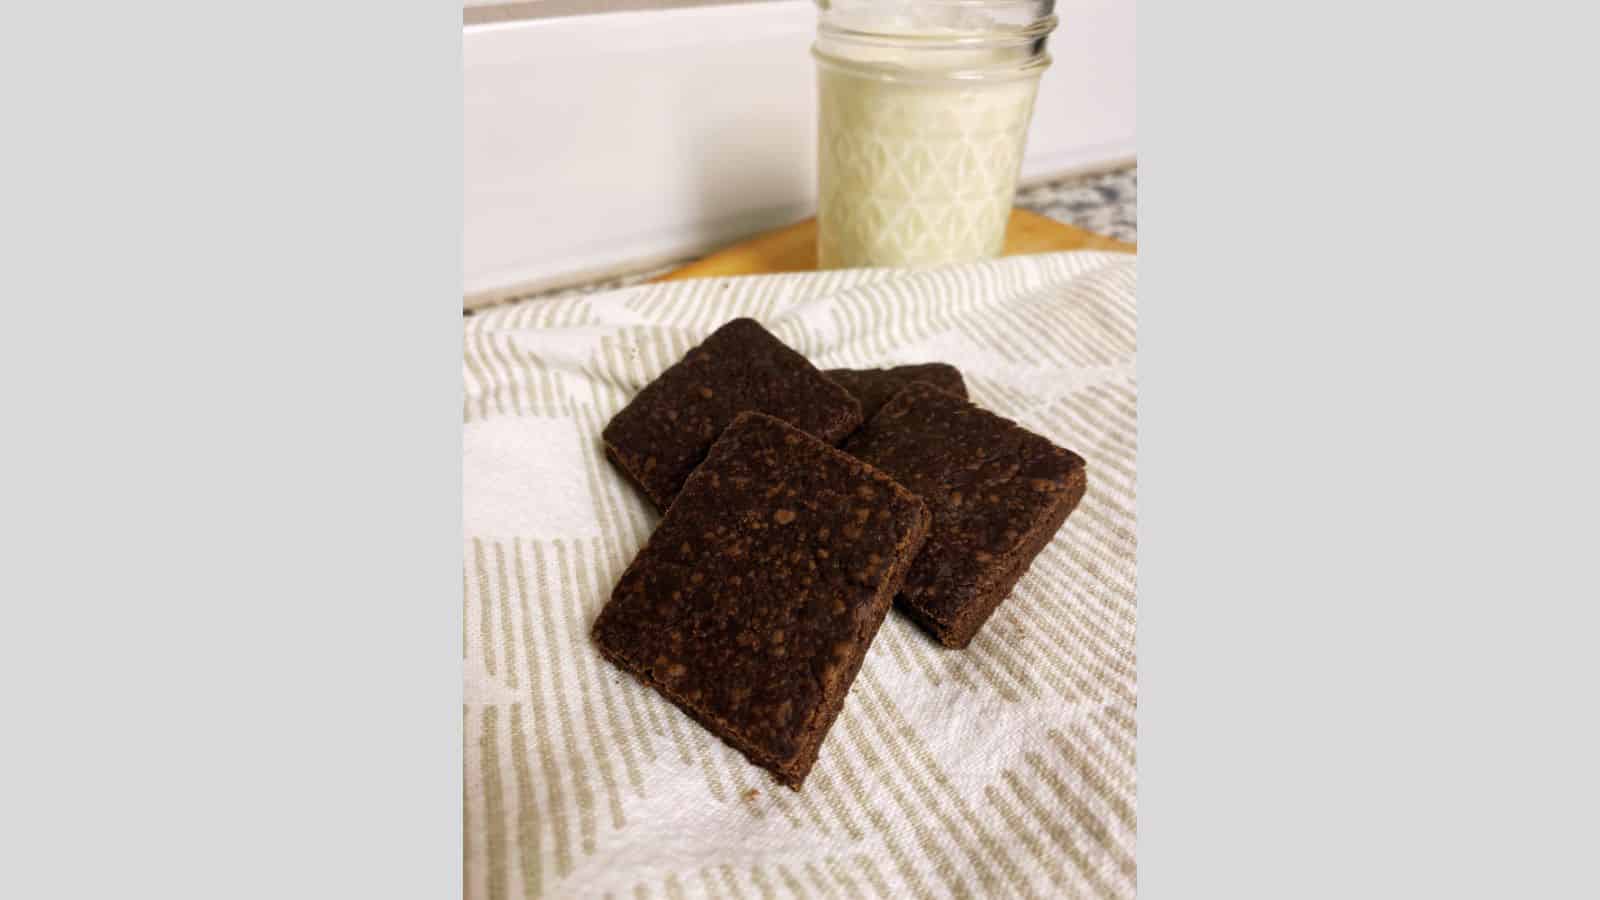
M 818 0 L 818 264 L 998 256 L 1054 0 Z

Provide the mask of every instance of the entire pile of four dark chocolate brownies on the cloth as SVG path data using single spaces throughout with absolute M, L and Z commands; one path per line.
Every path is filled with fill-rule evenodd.
M 1086 484 L 950 365 L 819 372 L 752 319 L 603 440 L 664 516 L 595 621 L 602 655 L 795 790 L 888 607 L 966 647 Z

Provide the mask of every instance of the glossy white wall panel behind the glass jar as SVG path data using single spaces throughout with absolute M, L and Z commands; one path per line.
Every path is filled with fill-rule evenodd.
M 1134 155 L 1134 3 L 1058 0 L 1022 179 Z M 469 26 L 469 298 L 688 258 L 816 211 L 808 2 Z

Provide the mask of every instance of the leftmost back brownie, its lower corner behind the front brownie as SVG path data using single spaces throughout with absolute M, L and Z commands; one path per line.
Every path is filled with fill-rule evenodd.
M 861 404 L 754 319 L 734 319 L 645 386 L 602 432 L 611 458 L 666 511 L 734 416 L 778 416 L 826 444 L 861 424 Z

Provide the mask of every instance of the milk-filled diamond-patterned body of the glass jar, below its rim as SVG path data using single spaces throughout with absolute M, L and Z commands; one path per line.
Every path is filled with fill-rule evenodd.
M 886 80 L 818 72 L 818 264 L 997 256 L 1038 74 Z

